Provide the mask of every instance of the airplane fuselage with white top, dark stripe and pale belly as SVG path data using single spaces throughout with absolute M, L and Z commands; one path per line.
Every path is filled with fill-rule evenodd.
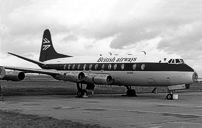
M 191 84 L 195 79 L 196 73 L 184 62 L 149 59 L 132 56 L 70 57 L 46 61 L 43 68 L 63 73 L 109 74 L 113 77 L 113 85 L 125 86 L 171 86 Z

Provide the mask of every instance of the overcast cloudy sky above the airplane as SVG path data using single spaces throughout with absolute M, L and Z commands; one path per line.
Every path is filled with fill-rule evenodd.
M 182 57 L 202 76 L 201 0 L 0 0 L 0 65 L 36 65 L 45 29 L 73 56 L 147 54 Z

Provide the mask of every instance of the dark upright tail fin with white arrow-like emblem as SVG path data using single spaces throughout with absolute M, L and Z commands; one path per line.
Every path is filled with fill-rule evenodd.
M 39 61 L 43 62 L 46 60 L 64 58 L 64 57 L 71 57 L 71 56 L 60 54 L 55 51 L 52 44 L 50 31 L 46 29 L 43 34 Z

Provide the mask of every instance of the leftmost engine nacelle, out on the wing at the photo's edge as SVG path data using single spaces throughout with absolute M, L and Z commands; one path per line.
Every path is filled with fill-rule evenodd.
M 19 71 L 5 71 L 4 77 L 1 80 L 21 81 L 25 79 L 25 73 Z

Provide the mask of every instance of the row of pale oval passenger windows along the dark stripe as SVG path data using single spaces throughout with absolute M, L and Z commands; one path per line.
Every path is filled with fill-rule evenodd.
M 71 67 L 72 66 L 72 67 Z M 125 65 L 124 64 L 121 64 L 121 69 L 122 70 L 124 70 L 124 67 L 125 67 Z M 136 64 L 133 64 L 133 70 L 136 70 L 136 67 L 137 67 L 137 65 Z M 68 67 L 67 67 L 67 65 L 64 65 L 64 69 L 68 69 L 68 70 L 70 70 L 70 69 L 72 69 L 72 70 L 74 70 L 74 69 L 76 69 L 76 65 L 75 64 L 73 64 L 73 65 L 71 65 L 71 64 L 69 64 L 68 65 Z M 78 64 L 77 65 L 77 69 L 79 70 L 81 68 L 81 66 L 80 66 L 80 64 Z M 93 64 L 90 64 L 89 65 L 89 70 L 92 70 L 92 68 L 93 68 Z M 105 64 L 102 64 L 102 70 L 104 70 L 104 68 L 105 68 Z M 85 70 L 86 69 L 86 64 L 84 64 L 83 65 L 83 70 Z M 94 69 L 95 70 L 97 70 L 98 69 L 98 64 L 95 64 L 95 67 L 94 67 Z M 111 70 L 112 69 L 112 64 L 108 64 L 108 69 L 109 70 Z M 116 70 L 117 69 L 117 64 L 114 64 L 114 66 L 113 66 L 113 69 L 114 70 Z M 142 64 L 141 65 L 141 70 L 144 70 L 145 69 L 145 64 Z

